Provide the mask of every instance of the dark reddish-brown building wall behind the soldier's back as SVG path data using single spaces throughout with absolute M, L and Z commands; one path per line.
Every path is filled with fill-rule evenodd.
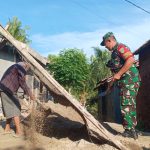
M 137 117 L 140 126 L 150 130 L 150 47 L 139 53 L 141 87 L 137 96 Z

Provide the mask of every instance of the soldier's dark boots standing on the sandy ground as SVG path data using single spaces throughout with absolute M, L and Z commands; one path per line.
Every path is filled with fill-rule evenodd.
M 128 137 L 128 138 L 134 138 L 135 140 L 138 139 L 138 134 L 135 131 L 135 129 L 125 129 L 125 131 L 122 133 L 123 137 Z

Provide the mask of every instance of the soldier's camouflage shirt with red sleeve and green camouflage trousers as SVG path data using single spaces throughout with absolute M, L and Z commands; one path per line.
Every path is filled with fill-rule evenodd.
M 125 61 L 133 57 L 130 49 L 124 44 L 117 43 L 111 55 L 111 70 L 117 73 L 125 64 Z M 117 81 L 120 87 L 121 113 L 123 116 L 123 127 L 134 129 L 136 121 L 136 95 L 140 86 L 140 76 L 138 69 L 133 64 Z

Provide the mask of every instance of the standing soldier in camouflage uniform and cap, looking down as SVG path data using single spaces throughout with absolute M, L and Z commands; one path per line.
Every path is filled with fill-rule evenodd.
M 140 76 L 134 64 L 134 56 L 126 45 L 117 42 L 112 32 L 103 36 L 101 45 L 111 51 L 111 60 L 107 66 L 113 73 L 113 81 L 116 81 L 120 87 L 122 124 L 125 129 L 122 136 L 137 139 L 136 96 L 140 86 Z

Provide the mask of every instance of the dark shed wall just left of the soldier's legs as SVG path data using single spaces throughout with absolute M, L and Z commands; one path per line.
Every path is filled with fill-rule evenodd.
M 99 95 L 105 90 L 106 87 L 100 87 Z M 100 121 L 121 123 L 119 88 L 116 84 L 114 84 L 109 94 L 99 97 L 98 117 Z

